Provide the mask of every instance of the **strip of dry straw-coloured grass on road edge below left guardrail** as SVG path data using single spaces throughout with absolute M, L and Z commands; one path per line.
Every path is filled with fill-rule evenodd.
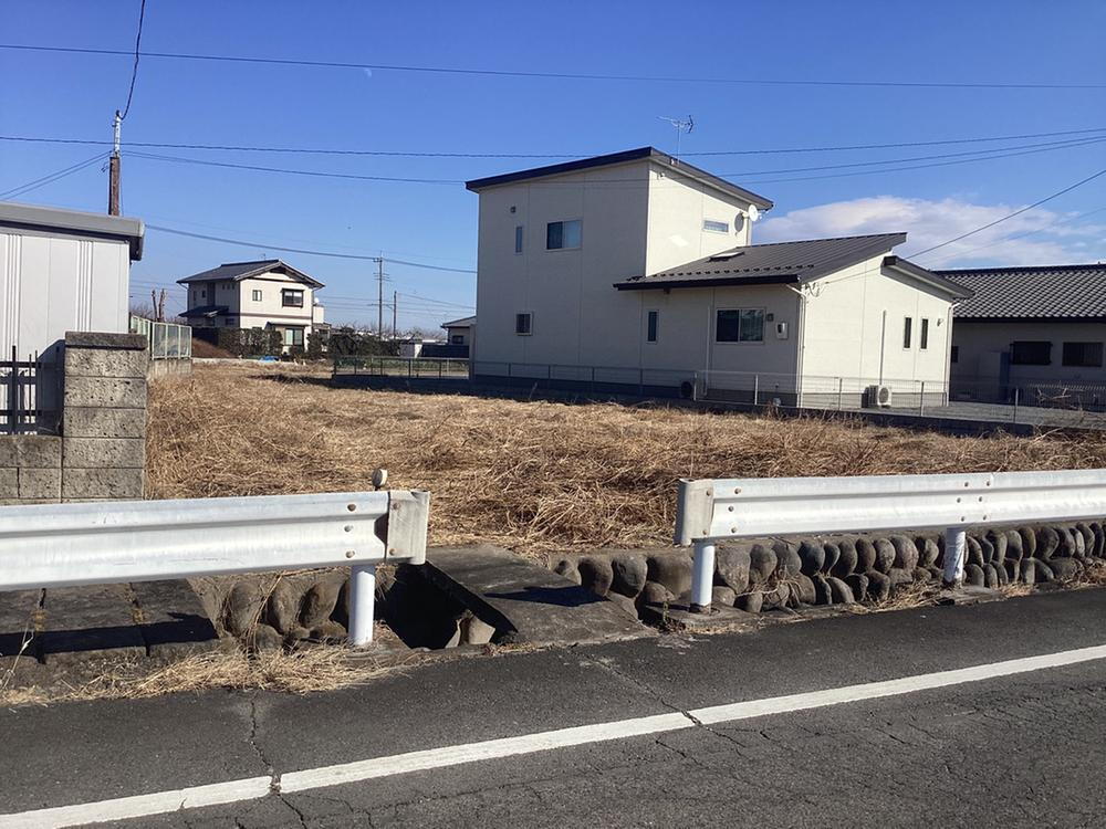
M 0 689 L 0 705 L 76 700 L 140 700 L 166 693 L 261 690 L 307 694 L 361 684 L 394 670 L 346 648 L 311 647 L 247 655 L 240 649 L 198 654 L 149 670 L 145 660 L 114 663 L 79 684 Z

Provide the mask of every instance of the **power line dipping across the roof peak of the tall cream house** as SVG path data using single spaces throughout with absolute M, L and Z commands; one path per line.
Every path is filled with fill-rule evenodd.
M 1056 136 L 1087 135 L 1106 132 L 1106 127 L 1087 129 L 1064 129 L 1053 133 L 1023 133 L 1021 135 L 997 135 L 974 138 L 945 138 L 930 141 L 896 141 L 889 144 L 852 144 L 837 147 L 774 147 L 762 149 L 726 149 L 684 153 L 682 157 L 691 156 L 757 156 L 787 155 L 794 153 L 843 153 L 866 149 L 896 149 L 905 147 L 936 147 L 950 144 L 979 144 L 984 141 L 1012 141 L 1026 138 L 1053 138 Z M 42 136 L 0 135 L 3 141 L 24 141 L 31 144 L 80 144 L 91 146 L 111 146 L 111 141 L 92 138 L 49 138 Z M 376 149 L 330 149 L 323 147 L 259 147 L 233 144 L 168 144 L 164 141 L 124 141 L 124 147 L 145 147 L 149 149 L 199 149 L 232 153 L 288 153 L 323 156 L 382 156 L 404 158 L 585 158 L 594 153 L 431 153 L 415 150 L 376 150 Z

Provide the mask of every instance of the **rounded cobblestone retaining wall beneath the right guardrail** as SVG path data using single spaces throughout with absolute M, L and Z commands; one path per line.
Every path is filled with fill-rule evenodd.
M 713 601 L 749 612 L 801 605 L 881 601 L 917 584 L 940 584 L 943 533 L 864 534 L 720 543 Z M 968 531 L 964 581 L 1066 581 L 1106 563 L 1106 520 Z M 554 570 L 639 612 L 686 601 L 690 550 L 596 550 L 557 559 Z

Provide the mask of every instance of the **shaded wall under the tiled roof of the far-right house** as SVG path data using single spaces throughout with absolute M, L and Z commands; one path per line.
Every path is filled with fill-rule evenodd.
M 1003 376 L 1003 355 L 1019 340 L 1052 343 L 1048 366 L 1009 366 Z M 1033 382 L 1106 384 L 1106 367 L 1065 366 L 1064 343 L 1106 343 L 1106 323 L 979 323 L 953 321 L 952 344 L 959 351 L 952 379 L 959 386 L 973 384 L 1027 385 Z

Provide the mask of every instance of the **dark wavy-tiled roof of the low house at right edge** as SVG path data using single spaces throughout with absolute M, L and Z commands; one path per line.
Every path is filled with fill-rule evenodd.
M 936 273 L 969 287 L 975 297 L 957 319 L 1106 319 L 1106 264 L 982 267 Z

